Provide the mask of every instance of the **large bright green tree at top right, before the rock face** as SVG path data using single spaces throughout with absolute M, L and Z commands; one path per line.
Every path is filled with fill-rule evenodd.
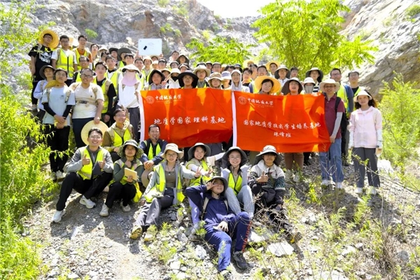
M 373 61 L 370 41 L 353 41 L 339 34 L 349 8 L 338 0 L 295 0 L 269 3 L 253 23 L 255 37 L 269 43 L 269 53 L 288 66 L 350 69 Z

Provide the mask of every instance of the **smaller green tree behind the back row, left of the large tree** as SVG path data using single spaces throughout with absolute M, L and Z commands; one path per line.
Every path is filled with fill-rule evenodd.
M 251 57 L 249 48 L 252 46 L 239 43 L 235 38 L 228 41 L 227 38 L 222 36 L 216 36 L 206 44 L 199 38 L 193 38 L 186 45 L 192 52 L 191 58 L 197 61 L 211 60 L 227 64 L 241 63 L 244 59 Z

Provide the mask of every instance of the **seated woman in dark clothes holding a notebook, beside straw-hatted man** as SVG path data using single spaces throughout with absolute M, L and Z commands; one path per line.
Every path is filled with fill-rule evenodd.
M 137 142 L 134 140 L 125 141 L 123 146 L 118 148 L 118 155 L 121 158 L 116 161 L 113 167 L 113 179 L 115 182 L 109 186 L 109 193 L 99 213 L 100 216 L 109 216 L 109 210 L 116 200 L 121 200 L 120 207 L 123 209 L 123 212 L 131 211 L 130 205 L 128 204 L 130 200 L 139 202 L 142 187 L 139 185 L 139 179 L 144 170 L 139 160 L 142 154 L 143 151 L 137 146 Z M 126 176 L 125 169 L 127 168 L 136 172 L 137 175 Z

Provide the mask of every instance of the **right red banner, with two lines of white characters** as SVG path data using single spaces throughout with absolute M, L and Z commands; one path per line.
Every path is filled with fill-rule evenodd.
M 273 96 L 235 92 L 234 145 L 249 151 L 275 146 L 279 153 L 328 151 L 322 94 Z

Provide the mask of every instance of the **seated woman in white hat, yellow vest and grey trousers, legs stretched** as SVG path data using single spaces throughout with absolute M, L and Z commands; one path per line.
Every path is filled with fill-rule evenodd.
M 155 230 L 151 225 L 157 225 L 160 211 L 171 205 L 183 202 L 181 179 L 193 179 L 199 177 L 199 172 L 191 172 L 179 164 L 183 152 L 179 151 L 176 144 L 167 144 L 162 157 L 164 161 L 153 167 L 153 176 L 143 194 L 146 203 L 141 207 L 141 213 L 134 223 L 130 238 L 137 239 L 146 232 L 144 241 L 155 238 Z M 150 229 L 150 230 L 149 230 Z

